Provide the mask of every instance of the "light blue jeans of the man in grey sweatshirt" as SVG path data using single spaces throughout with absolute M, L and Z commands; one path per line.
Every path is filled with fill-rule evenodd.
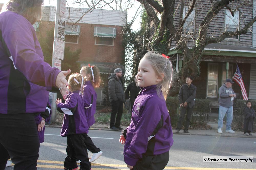
M 218 128 L 223 127 L 223 118 L 227 113 L 227 123 L 226 123 L 226 130 L 231 130 L 231 123 L 233 120 L 233 106 L 230 107 L 219 107 L 219 121 L 218 121 Z

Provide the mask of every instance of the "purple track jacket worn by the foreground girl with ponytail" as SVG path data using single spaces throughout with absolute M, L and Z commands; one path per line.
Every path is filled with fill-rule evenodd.
M 128 165 L 136 165 L 142 154 L 165 153 L 173 144 L 170 116 L 162 93 L 161 96 L 152 85 L 141 88 L 134 102 L 124 145 L 124 161 Z

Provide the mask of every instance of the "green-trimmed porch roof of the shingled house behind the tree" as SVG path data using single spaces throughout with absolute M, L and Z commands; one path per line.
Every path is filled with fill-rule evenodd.
M 192 48 L 189 48 L 192 50 Z M 177 48 L 171 48 L 168 55 L 182 54 Z M 203 55 L 233 56 L 233 57 L 256 57 L 256 48 L 237 45 L 223 45 L 219 43 L 208 44 L 204 48 Z

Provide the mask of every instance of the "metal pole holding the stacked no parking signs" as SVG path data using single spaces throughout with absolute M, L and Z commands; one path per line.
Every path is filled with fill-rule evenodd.
M 65 16 L 65 4 L 66 4 L 65 0 L 57 0 L 56 14 L 55 14 L 54 41 L 53 41 L 53 50 L 52 50 L 52 67 L 56 67 L 59 70 L 61 70 L 61 60 L 59 60 L 59 59 L 63 60 L 64 46 L 63 46 L 63 49 L 57 49 L 56 48 L 56 40 L 57 40 L 57 42 L 62 41 L 62 40 L 58 39 L 58 31 L 59 31 L 58 21 L 61 20 L 61 16 L 63 16 L 63 17 Z M 64 24 L 64 28 L 65 28 L 65 24 Z M 64 31 L 63 31 L 63 34 L 64 34 Z M 63 44 L 63 41 L 62 41 L 62 44 Z M 64 42 L 64 44 L 65 44 L 65 42 Z M 58 52 L 61 52 L 63 54 L 63 57 L 59 57 L 61 55 L 59 55 L 59 56 L 56 55 L 56 50 Z M 56 57 L 59 58 L 59 59 L 57 59 Z M 56 62 L 57 62 L 57 64 L 58 63 L 60 63 L 60 64 L 57 65 Z M 52 122 L 55 122 L 55 118 L 56 118 L 56 109 L 57 109 L 57 106 L 55 104 L 56 99 L 57 99 L 57 93 L 54 93 L 53 97 L 52 97 L 52 103 L 51 103 L 51 113 L 52 113 L 51 114 L 51 121 Z

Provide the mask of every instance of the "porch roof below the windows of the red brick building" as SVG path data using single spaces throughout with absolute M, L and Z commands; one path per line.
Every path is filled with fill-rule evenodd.
M 123 65 L 121 65 L 120 63 L 110 63 L 110 62 L 88 62 L 88 61 L 78 61 L 80 63 L 80 66 L 88 66 L 88 64 L 92 65 L 96 65 L 101 74 L 110 74 L 110 73 L 114 73 L 114 70 L 116 68 L 121 68 L 122 72 L 124 74 L 125 72 L 125 68 Z

